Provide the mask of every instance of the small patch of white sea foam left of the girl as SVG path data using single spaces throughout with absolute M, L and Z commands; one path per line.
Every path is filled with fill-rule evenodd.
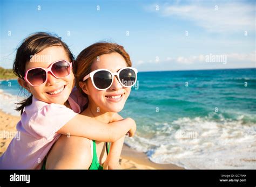
M 19 112 L 15 110 L 17 106 L 15 103 L 20 102 L 23 99 L 22 97 L 18 97 L 10 93 L 6 93 L 0 89 L 0 98 L 1 98 L 0 109 L 3 112 L 14 115 L 14 116 L 20 116 Z

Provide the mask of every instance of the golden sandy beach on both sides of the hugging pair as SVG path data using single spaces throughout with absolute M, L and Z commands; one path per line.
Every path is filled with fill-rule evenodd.
M 16 132 L 16 125 L 19 120 L 20 117 L 6 114 L 0 110 L 0 132 Z M 10 142 L 11 138 L 4 138 L 0 136 L 0 155 L 4 153 Z M 174 164 L 153 163 L 149 159 L 147 159 L 144 153 L 137 152 L 136 150 L 131 149 L 126 145 L 123 146 L 119 162 L 123 169 L 184 169 Z

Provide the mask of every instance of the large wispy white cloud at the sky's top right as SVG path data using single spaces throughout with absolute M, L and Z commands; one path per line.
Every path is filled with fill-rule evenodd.
M 197 5 L 194 5 L 197 4 Z M 159 5 L 162 16 L 191 20 L 211 32 L 244 32 L 255 30 L 255 6 L 245 3 L 194 3 Z M 156 11 L 156 5 L 147 10 Z M 217 10 L 218 9 L 218 10 Z

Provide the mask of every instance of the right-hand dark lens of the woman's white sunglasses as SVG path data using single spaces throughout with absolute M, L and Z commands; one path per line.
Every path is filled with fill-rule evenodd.
M 136 81 L 136 73 L 132 69 L 123 69 L 119 73 L 120 81 L 125 87 L 132 87 Z

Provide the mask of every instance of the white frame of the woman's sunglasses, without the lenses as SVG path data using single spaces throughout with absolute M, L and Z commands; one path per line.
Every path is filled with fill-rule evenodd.
M 86 75 L 86 76 L 83 78 L 83 81 L 85 81 L 85 80 L 87 80 L 89 77 L 91 77 L 93 86 L 94 86 L 97 90 L 103 91 L 103 90 L 107 90 L 107 89 L 109 89 L 109 88 L 111 87 L 111 85 L 113 84 L 113 81 L 114 81 L 114 76 L 117 76 L 118 82 L 119 82 L 123 87 L 125 87 L 125 88 L 130 88 L 130 87 L 132 87 L 134 84 L 132 84 L 132 85 L 130 85 L 130 86 L 126 86 L 126 85 L 124 85 L 124 84 L 121 82 L 120 77 L 119 77 L 120 72 L 121 72 L 122 70 L 124 70 L 124 69 L 132 69 L 132 70 L 134 71 L 134 73 L 135 73 L 135 75 L 136 75 L 134 84 L 136 84 L 136 82 L 137 82 L 137 73 L 138 73 L 138 70 L 137 70 L 136 68 L 132 68 L 132 67 L 121 68 L 121 69 L 119 69 L 119 70 L 118 70 L 117 72 L 115 72 L 115 73 L 113 73 L 113 72 L 110 71 L 109 69 L 97 69 L 97 70 L 92 71 L 90 74 Z M 95 83 L 94 83 L 94 81 L 93 81 L 93 76 L 94 76 L 98 71 L 102 71 L 102 70 L 109 72 L 109 73 L 111 74 L 111 76 L 112 76 L 112 82 L 111 82 L 110 86 L 107 87 L 107 88 L 104 88 L 104 89 L 97 88 L 96 85 L 95 85 Z

